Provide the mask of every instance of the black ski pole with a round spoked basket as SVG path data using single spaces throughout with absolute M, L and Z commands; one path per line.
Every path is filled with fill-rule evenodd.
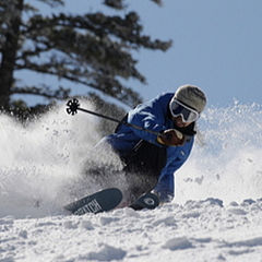
M 139 126 L 135 126 L 135 124 L 132 124 L 132 123 L 129 123 L 129 122 L 126 122 L 126 121 L 122 121 L 122 120 L 118 120 L 116 118 L 111 118 L 111 117 L 107 117 L 105 115 L 102 115 L 102 114 L 98 114 L 98 112 L 94 112 L 94 111 L 91 111 L 91 110 L 87 110 L 87 109 L 84 109 L 84 108 L 81 108 L 80 107 L 80 103 L 76 98 L 73 98 L 72 100 L 69 100 L 67 103 L 67 112 L 69 115 L 72 115 L 74 116 L 75 114 L 78 114 L 78 110 L 79 111 L 84 111 L 84 112 L 87 112 L 87 114 L 91 114 L 91 115 L 94 115 L 96 117 L 100 117 L 100 118 L 105 118 L 107 120 L 110 120 L 110 121 L 114 121 L 114 122 L 117 122 L 117 123 L 121 123 L 121 124 L 126 124 L 128 127 L 132 127 L 132 128 L 136 128 L 139 130 L 143 130 L 145 132 L 148 132 L 148 133 L 153 133 L 153 134 L 156 134 L 156 135 L 163 135 L 162 133 L 159 132 L 155 132 L 155 131 L 152 131 L 150 129 L 145 129 L 145 128 L 142 128 L 142 127 L 139 127 Z

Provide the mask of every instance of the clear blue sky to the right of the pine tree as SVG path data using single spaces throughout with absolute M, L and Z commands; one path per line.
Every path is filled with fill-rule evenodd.
M 141 16 L 144 34 L 174 41 L 166 52 L 141 49 L 134 57 L 147 84 L 127 84 L 151 99 L 183 84 L 201 87 L 209 106 L 262 104 L 261 0 L 130 1 L 128 11 Z M 108 12 L 97 0 L 66 0 L 61 11 Z M 43 76 L 44 78 L 44 76 Z M 86 91 L 85 91 L 86 92 Z

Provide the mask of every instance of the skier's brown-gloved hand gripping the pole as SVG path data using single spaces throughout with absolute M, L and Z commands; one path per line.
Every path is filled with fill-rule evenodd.
M 157 142 L 168 146 L 180 146 L 184 144 L 184 135 L 176 130 L 165 130 L 160 135 L 157 136 Z

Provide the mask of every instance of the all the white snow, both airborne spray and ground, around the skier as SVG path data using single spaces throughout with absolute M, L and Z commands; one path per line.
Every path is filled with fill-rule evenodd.
M 99 140 L 96 123 L 64 105 L 26 127 L 0 116 L 1 262 L 262 261 L 260 105 L 203 114 L 171 203 L 68 215 L 63 204 L 98 189 L 80 175 Z

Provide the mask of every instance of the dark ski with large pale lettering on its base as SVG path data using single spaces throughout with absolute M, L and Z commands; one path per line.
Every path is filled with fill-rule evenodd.
M 97 214 L 114 210 L 121 201 L 122 192 L 117 188 L 108 188 L 64 205 L 63 209 L 74 215 Z

